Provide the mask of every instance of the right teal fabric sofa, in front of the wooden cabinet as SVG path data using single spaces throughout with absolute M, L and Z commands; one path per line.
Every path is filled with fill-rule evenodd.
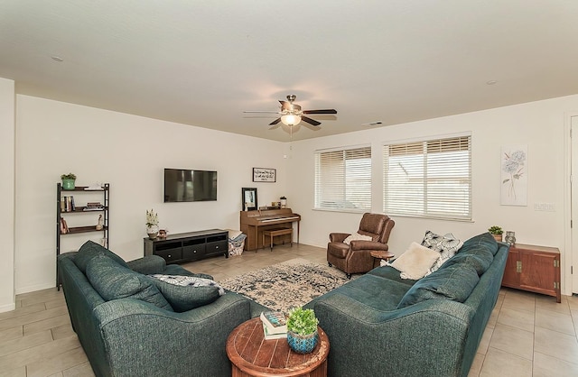
M 421 280 L 383 266 L 313 299 L 328 375 L 467 376 L 507 259 L 508 244 L 480 234 Z

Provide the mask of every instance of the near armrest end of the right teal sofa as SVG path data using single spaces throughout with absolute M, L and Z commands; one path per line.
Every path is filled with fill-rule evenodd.
M 338 293 L 312 308 L 331 339 L 329 375 L 461 375 L 474 314 L 467 305 L 432 299 L 381 311 Z M 376 350 L 382 357 L 359 358 Z

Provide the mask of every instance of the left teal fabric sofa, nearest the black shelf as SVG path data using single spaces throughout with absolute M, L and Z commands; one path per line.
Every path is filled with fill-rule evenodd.
M 212 279 L 156 255 L 125 262 L 88 242 L 59 255 L 58 265 L 70 321 L 97 376 L 228 376 L 228 335 L 266 309 L 233 292 L 220 296 L 218 287 L 187 292 L 154 280 L 147 275 Z

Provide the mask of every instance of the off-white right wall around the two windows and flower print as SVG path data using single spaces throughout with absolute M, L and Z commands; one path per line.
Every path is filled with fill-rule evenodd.
M 359 214 L 315 211 L 313 207 L 315 150 L 371 144 L 374 212 L 383 213 L 383 143 L 396 140 L 471 132 L 473 221 L 424 220 L 393 216 L 396 226 L 390 250 L 403 253 L 412 241 L 421 241 L 426 230 L 452 232 L 462 240 L 486 232 L 490 225 L 516 232 L 517 242 L 558 247 L 564 274 L 569 273 L 571 251 L 564 251 L 564 113 L 578 109 L 578 96 L 560 97 L 518 106 L 447 116 L 395 126 L 380 127 L 293 143 L 289 163 L 287 199 L 302 215 L 301 242 L 325 246 L 330 232 L 354 232 Z M 328 125 L 329 126 L 329 125 Z M 528 205 L 500 206 L 500 147 L 528 146 Z M 566 178 L 567 179 L 567 178 Z M 555 212 L 538 212 L 534 203 L 554 203 Z M 566 262 L 567 261 L 567 262 Z

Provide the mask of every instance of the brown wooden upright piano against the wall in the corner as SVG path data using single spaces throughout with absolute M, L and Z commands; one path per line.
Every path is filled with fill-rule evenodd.
M 291 228 L 294 222 L 297 223 L 297 244 L 299 244 L 301 216 L 294 214 L 291 208 L 241 211 L 239 220 L 241 232 L 247 234 L 245 250 L 257 250 L 263 247 L 264 230 Z M 291 240 L 287 239 L 287 242 Z

